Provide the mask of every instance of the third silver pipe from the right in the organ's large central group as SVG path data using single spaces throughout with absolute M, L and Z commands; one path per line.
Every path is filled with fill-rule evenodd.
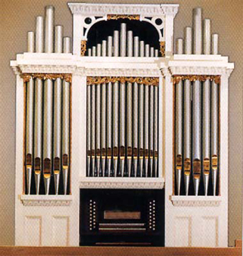
M 149 86 L 144 86 L 144 150 L 149 151 Z M 148 177 L 148 156 L 145 156 L 145 173 Z

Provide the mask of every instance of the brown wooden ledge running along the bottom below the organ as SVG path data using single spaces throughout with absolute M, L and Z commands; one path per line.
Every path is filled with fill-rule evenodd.
M 0 247 L 0 255 L 109 255 L 109 256 L 240 256 L 242 248 L 173 248 L 173 247 Z

